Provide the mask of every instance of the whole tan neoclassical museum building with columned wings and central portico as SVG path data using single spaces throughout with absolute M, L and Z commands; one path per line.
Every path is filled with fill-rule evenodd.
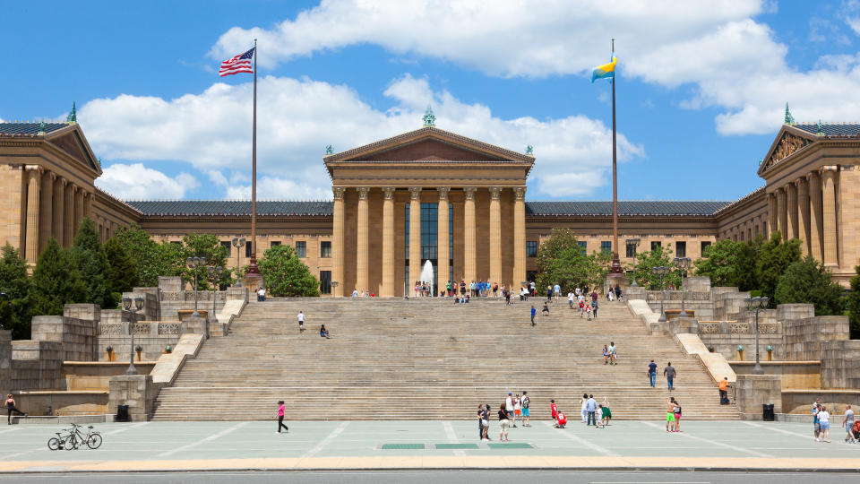
M 657 245 L 695 259 L 718 240 L 779 230 L 801 239 L 805 254 L 847 284 L 860 263 L 860 125 L 786 121 L 759 167 L 764 186 L 740 200 L 620 202 L 622 262 Z M 536 160 L 526 151 L 445 131 L 431 119 L 409 133 L 329 152 L 322 162 L 333 201 L 258 202 L 258 255 L 294 246 L 323 294 L 402 296 L 427 261 L 437 287 L 448 280 L 519 285 L 532 278 L 538 246 L 556 227 L 572 229 L 587 252 L 612 250 L 611 202 L 526 200 Z M 105 239 L 136 223 L 166 243 L 189 232 L 216 234 L 230 266 L 246 264 L 251 253 L 230 246 L 232 238 L 250 238 L 248 201 L 120 201 L 99 190 L 99 161 L 73 117 L 0 123 L 0 170 L 0 242 L 19 247 L 30 263 L 48 238 L 71 245 L 84 216 Z M 624 246 L 626 238 L 641 245 Z

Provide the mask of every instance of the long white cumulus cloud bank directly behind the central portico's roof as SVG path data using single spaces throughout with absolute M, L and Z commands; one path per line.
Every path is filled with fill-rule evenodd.
M 272 76 L 258 82 L 261 197 L 330 198 L 331 180 L 322 160 L 327 144 L 343 151 L 416 129 L 428 103 L 440 128 L 514 151 L 534 145 L 538 163 L 531 179 L 540 191 L 556 175 L 574 169 L 601 172 L 612 159 L 612 132 L 600 121 L 582 116 L 502 119 L 486 105 L 434 91 L 426 79 L 409 74 L 387 86 L 384 94 L 392 106 L 384 111 L 347 86 Z M 243 174 L 251 162 L 250 90 L 250 84 L 219 83 L 177 99 L 95 99 L 81 108 L 80 119 L 90 143 L 107 159 L 186 161 L 226 196 L 247 197 L 250 183 Z M 618 147 L 620 160 L 644 155 L 624 134 Z M 592 179 L 554 186 L 546 194 L 583 194 L 598 186 Z

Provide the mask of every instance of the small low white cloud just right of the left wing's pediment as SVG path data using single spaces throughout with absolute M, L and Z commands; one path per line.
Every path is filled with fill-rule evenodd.
M 103 170 L 101 177 L 96 178 L 96 185 L 124 200 L 178 199 L 199 186 L 197 180 L 188 173 L 168 177 L 159 170 L 144 167 L 141 163 L 110 165 Z

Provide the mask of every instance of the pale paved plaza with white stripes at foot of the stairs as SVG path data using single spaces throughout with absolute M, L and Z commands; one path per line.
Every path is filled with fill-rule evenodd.
M 494 422 L 495 423 L 495 422 Z M 96 426 L 98 450 L 49 451 L 60 428 L 0 428 L 0 471 L 209 471 L 294 469 L 860 469 L 860 445 L 834 432 L 830 444 L 812 425 L 782 422 L 619 421 L 605 429 L 574 422 L 512 428 L 511 442 L 477 441 L 471 421 L 143 422 Z M 497 428 L 491 427 L 497 438 Z M 477 444 L 477 448 L 437 445 Z M 424 448 L 383 448 L 423 445 Z

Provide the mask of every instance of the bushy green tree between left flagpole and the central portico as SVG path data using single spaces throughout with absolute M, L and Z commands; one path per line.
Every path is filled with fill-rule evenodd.
M 319 296 L 320 281 L 291 246 L 273 246 L 258 263 L 272 296 Z

